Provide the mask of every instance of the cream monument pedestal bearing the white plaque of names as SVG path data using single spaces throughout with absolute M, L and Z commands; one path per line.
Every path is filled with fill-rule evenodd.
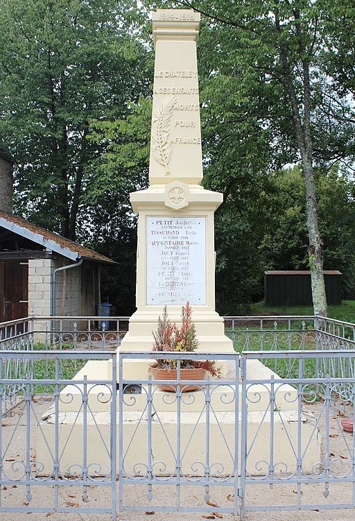
M 139 214 L 137 311 L 121 350 L 150 350 L 164 305 L 171 322 L 179 322 L 187 301 L 199 349 L 232 350 L 214 308 L 214 212 L 221 200 L 222 194 L 179 181 L 131 194 Z

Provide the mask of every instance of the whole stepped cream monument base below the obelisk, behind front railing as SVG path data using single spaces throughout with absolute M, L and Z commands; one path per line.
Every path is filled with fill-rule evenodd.
M 78 373 L 77 379 L 87 375 L 96 381 L 107 379 L 107 362 L 92 361 Z M 256 379 L 270 377 L 270 371 L 259 361 L 248 362 L 248 375 Z M 145 377 L 146 379 L 146 377 Z M 137 383 L 139 378 L 136 378 Z M 215 382 L 214 382 L 215 384 Z M 275 411 L 270 411 L 270 386 L 254 384 L 247 395 L 248 413 L 246 433 L 246 472 L 249 475 L 268 473 L 268 462 L 272 454 L 275 472 L 279 463 L 280 472 L 293 472 L 297 467 L 297 445 L 304 449 L 302 471 L 310 472 L 320 461 L 320 436 L 315 422 L 309 414 L 297 411 L 297 390 L 275 375 Z M 212 392 L 213 389 L 213 392 Z M 238 461 L 241 461 L 241 413 L 239 428 L 236 427 L 235 410 L 242 410 L 241 384 L 239 384 L 239 404 L 236 408 L 235 393 L 231 386 L 211 386 L 209 401 L 209 420 L 206 421 L 205 392 L 184 393 L 180 400 L 180 441 L 178 442 L 178 400 L 175 393 L 166 393 L 153 386 L 153 413 L 150 419 L 151 445 L 148 450 L 148 409 L 147 394 L 124 395 L 123 425 L 119 429 L 119 411 L 116 414 L 117 445 L 123 436 L 124 472 L 139 476 L 148 464 L 152 454 L 155 475 L 174 475 L 176 454 L 180 445 L 183 475 L 204 475 L 205 466 L 218 477 L 233 475 L 236 472 L 234 447 L 239 445 Z M 58 454 L 60 454 L 60 473 L 80 475 L 85 461 L 90 475 L 105 476 L 110 473 L 110 392 L 105 386 L 88 384 L 86 420 L 83 413 L 83 394 L 80 385 L 64 388 L 60 398 L 58 414 L 54 407 L 42 416 L 37 429 L 37 459 L 43 463 L 41 475 L 53 473 L 53 454 L 55 453 L 55 420 L 58 421 Z M 70 400 L 68 399 L 70 397 Z M 257 397 L 257 398 L 256 398 Z M 117 400 L 119 404 L 119 400 Z M 202 413 L 203 411 L 203 413 Z M 83 423 L 86 432 L 84 436 Z M 301 427 L 299 427 L 301 422 Z M 244 426 L 245 427 L 245 426 Z M 237 430 L 238 429 L 238 433 Z M 120 432 L 121 431 L 121 434 Z M 237 433 L 237 434 L 236 434 Z M 83 438 L 85 437 L 85 443 Z M 207 447 L 208 442 L 208 461 Z M 84 449 L 85 445 L 85 449 Z M 117 453 L 117 463 L 119 454 Z M 240 463 L 239 463 L 240 465 Z M 117 467 L 118 468 L 118 467 Z M 140 469 L 140 470 L 137 470 Z M 240 472 L 240 467 L 238 468 Z

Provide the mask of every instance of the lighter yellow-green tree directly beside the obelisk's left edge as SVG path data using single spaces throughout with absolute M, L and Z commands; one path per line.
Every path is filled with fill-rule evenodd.
M 91 122 L 88 139 L 101 154 L 83 199 L 89 230 L 86 226 L 80 233 L 81 241 L 119 263 L 117 271 L 102 271 L 101 291 L 123 315 L 135 311 L 137 216 L 130 192 L 148 185 L 151 100 L 141 99 L 130 110 L 124 120 Z

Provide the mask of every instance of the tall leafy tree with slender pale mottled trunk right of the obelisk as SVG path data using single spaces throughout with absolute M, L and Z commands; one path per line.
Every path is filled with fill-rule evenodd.
M 341 89 L 331 89 L 331 68 L 324 67 L 326 42 L 336 44 L 334 31 L 329 31 L 334 10 L 330 2 L 324 8 L 320 0 L 216 0 L 208 5 L 199 0 L 177 0 L 176 4 L 206 15 L 199 46 L 205 55 L 202 71 L 211 89 L 219 83 L 224 100 L 217 88 L 217 96 L 207 96 L 203 101 L 218 130 L 236 137 L 230 139 L 230 150 L 236 148 L 235 156 L 247 159 L 244 164 L 239 159 L 241 168 L 246 166 L 248 171 L 251 164 L 255 174 L 266 161 L 269 167 L 278 168 L 285 153 L 289 153 L 288 162 L 297 160 L 302 165 L 313 305 L 315 312 L 326 314 L 314 167 L 347 156 L 353 124 L 344 117 L 349 113 L 347 99 Z M 349 1 L 342 4 L 349 6 Z M 223 129 L 233 124 L 237 130 Z M 219 151 L 218 139 L 217 133 L 215 145 Z M 250 161 L 253 153 L 256 166 Z M 232 153 L 225 154 L 224 163 L 231 165 L 231 158 Z M 209 157 L 209 164 L 215 161 L 215 155 Z M 229 168 L 225 173 L 219 171 L 228 189 L 233 175 L 229 176 Z M 227 191 L 225 200 L 228 196 Z

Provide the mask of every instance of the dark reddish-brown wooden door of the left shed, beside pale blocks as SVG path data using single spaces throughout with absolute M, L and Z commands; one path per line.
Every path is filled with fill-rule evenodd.
M 28 316 L 28 262 L 0 262 L 0 321 Z

